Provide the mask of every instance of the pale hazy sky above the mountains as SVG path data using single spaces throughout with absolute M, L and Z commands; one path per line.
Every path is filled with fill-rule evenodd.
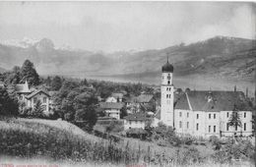
M 160 49 L 215 35 L 255 38 L 245 2 L 0 2 L 0 40 L 49 38 L 90 51 Z

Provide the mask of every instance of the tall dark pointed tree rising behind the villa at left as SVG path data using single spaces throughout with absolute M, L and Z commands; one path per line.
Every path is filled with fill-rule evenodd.
M 22 67 L 22 82 L 26 81 L 30 85 L 38 85 L 39 84 L 39 76 L 35 71 L 33 64 L 30 60 L 26 60 Z

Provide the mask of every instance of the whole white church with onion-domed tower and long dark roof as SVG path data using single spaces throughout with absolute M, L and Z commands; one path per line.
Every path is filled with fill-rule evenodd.
M 175 129 L 178 135 L 209 138 L 251 137 L 252 111 L 242 91 L 189 90 L 177 93 L 173 66 L 168 60 L 161 68 L 160 111 L 156 121 Z M 236 110 L 240 126 L 229 126 Z

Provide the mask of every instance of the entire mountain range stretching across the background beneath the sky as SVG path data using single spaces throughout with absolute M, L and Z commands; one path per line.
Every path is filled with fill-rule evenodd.
M 253 84 L 255 43 L 251 39 L 215 36 L 163 49 L 106 54 L 70 47 L 56 48 L 47 38 L 26 39 L 0 44 L 0 67 L 2 71 L 10 70 L 30 59 L 40 75 L 138 79 L 149 83 L 148 79 L 160 81 L 160 67 L 168 57 L 174 67 L 174 76 L 180 80 L 211 79 Z

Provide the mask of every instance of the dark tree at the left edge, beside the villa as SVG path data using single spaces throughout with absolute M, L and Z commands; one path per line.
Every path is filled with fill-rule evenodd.
M 18 115 L 19 104 L 6 88 L 0 87 L 0 115 Z

